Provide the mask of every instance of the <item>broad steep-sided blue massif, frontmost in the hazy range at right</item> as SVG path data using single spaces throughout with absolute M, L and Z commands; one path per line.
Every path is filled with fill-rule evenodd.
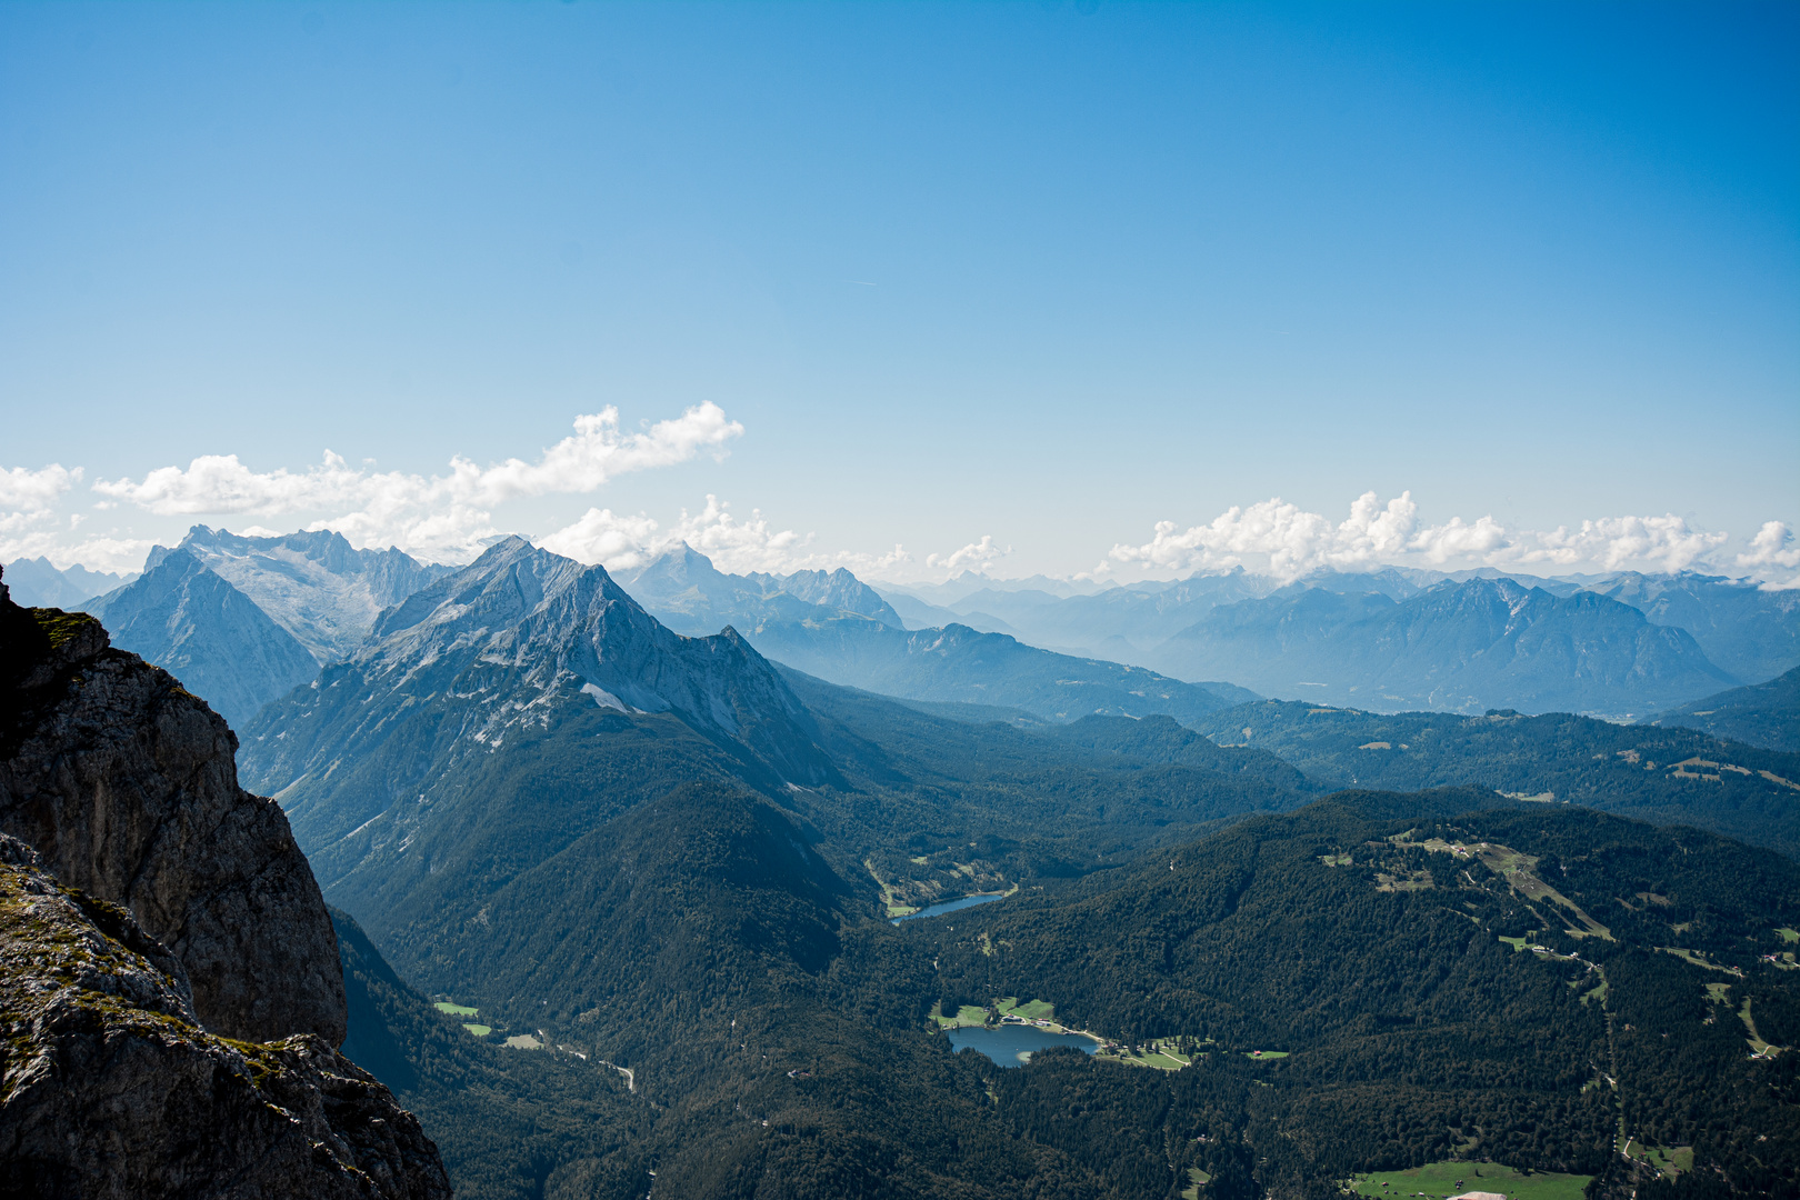
M 1364 709 L 1645 712 L 1732 684 L 1679 628 L 1597 592 L 1512 579 L 1411 599 L 1294 588 L 1213 610 L 1159 657 L 1278 696 Z

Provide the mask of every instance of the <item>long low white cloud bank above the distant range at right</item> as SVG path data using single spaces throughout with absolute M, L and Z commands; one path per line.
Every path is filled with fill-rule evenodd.
M 1764 525 L 1755 545 L 1769 547 L 1766 558 L 1739 556 L 1739 563 L 1778 565 L 1780 560 L 1769 556 L 1784 552 L 1780 536 Z M 1586 520 L 1573 531 L 1566 525 L 1508 531 L 1492 516 L 1422 525 L 1413 493 L 1404 491 L 1382 506 L 1370 491 L 1357 497 L 1348 518 L 1337 524 L 1280 497 L 1233 506 L 1206 525 L 1181 529 L 1175 522 L 1157 522 L 1148 542 L 1112 547 L 1111 561 L 1094 574 L 1111 570 L 1112 563 L 1174 572 L 1246 567 L 1283 581 L 1323 567 L 1366 570 L 1384 563 L 1674 572 L 1705 565 L 1726 542 L 1728 534 L 1692 529 L 1674 515 L 1607 516 Z

